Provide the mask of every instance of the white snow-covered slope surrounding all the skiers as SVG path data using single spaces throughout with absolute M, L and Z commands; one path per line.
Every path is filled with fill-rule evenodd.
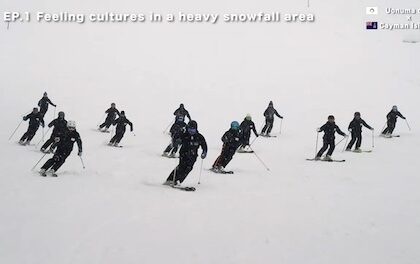
M 404 263 L 420 262 L 418 155 L 420 78 L 416 33 L 366 32 L 366 1 L 3 1 L 2 10 L 310 11 L 314 24 L 13 24 L 0 29 L 0 263 Z M 369 1 L 368 1 L 369 2 Z M 400 1 L 380 1 L 393 6 Z M 415 6 L 416 1 L 406 1 Z M 380 16 L 381 18 L 382 16 Z M 44 91 L 78 123 L 86 169 L 75 153 L 59 177 L 31 167 L 42 156 L 11 132 Z M 209 144 L 221 149 L 232 120 L 260 127 L 273 100 L 282 134 L 236 155 L 234 175 L 203 170 L 160 184 L 176 160 L 160 157 L 162 133 L 184 103 Z M 134 123 L 122 149 L 94 129 L 111 102 Z M 329 114 L 344 130 L 361 111 L 376 128 L 393 104 L 400 138 L 375 138 L 373 153 L 343 164 L 307 162 Z M 52 110 L 47 121 L 52 119 Z M 274 131 L 279 132 L 279 122 Z M 33 140 L 37 143 L 41 133 Z M 371 134 L 364 132 L 364 149 Z

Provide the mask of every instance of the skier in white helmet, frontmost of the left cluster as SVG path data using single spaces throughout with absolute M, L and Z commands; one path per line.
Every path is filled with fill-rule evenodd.
M 55 151 L 54 156 L 45 162 L 39 173 L 45 177 L 47 176 L 47 170 L 51 169 L 48 172 L 51 173 L 52 176 L 57 177 L 56 172 L 72 152 L 74 142 L 77 143 L 77 147 L 79 148 L 78 155 L 82 156 L 82 140 L 79 133 L 76 131 L 76 123 L 74 121 L 68 121 L 67 129 L 57 143 L 57 150 Z

